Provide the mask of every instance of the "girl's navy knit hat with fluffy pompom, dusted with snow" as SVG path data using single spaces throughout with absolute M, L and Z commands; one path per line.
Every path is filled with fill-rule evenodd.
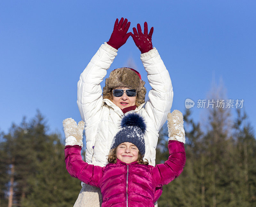
M 111 149 L 123 142 L 131 142 L 138 147 L 141 155 L 145 154 L 144 134 L 146 132 L 145 120 L 137 113 L 129 113 L 121 120 L 121 130 L 115 135 Z

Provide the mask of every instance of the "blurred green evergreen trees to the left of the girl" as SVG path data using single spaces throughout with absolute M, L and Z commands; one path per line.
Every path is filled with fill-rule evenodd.
M 64 145 L 59 134 L 47 134 L 44 118 L 37 113 L 20 126 L 13 125 L 1 143 L 6 154 L 3 175 L 8 206 L 71 206 L 81 189 L 65 167 Z M 1 149 L 1 148 L 0 148 Z M 3 196 L 3 195 L 2 195 Z

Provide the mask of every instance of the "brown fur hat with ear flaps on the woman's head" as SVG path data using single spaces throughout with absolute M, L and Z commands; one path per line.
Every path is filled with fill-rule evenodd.
M 136 71 L 137 72 L 137 71 Z M 140 73 L 136 73 L 132 68 L 117 68 L 106 78 L 105 87 L 103 88 L 103 99 L 112 100 L 111 90 L 116 87 L 126 87 L 137 90 L 136 106 L 145 103 L 146 88 L 145 81 L 140 80 Z

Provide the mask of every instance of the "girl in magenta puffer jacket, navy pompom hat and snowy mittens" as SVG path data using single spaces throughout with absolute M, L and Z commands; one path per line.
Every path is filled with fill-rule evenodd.
M 69 118 L 63 121 L 66 136 L 65 162 L 68 173 L 86 184 L 100 188 L 102 207 L 151 206 L 156 197 L 156 187 L 168 184 L 183 171 L 186 161 L 183 117 L 180 111 L 168 114 L 169 158 L 155 167 L 143 160 L 146 131 L 144 119 L 129 113 L 121 121 L 121 129 L 116 134 L 105 167 L 89 165 L 81 157 L 83 122 Z M 77 143 L 69 145 L 69 143 Z

